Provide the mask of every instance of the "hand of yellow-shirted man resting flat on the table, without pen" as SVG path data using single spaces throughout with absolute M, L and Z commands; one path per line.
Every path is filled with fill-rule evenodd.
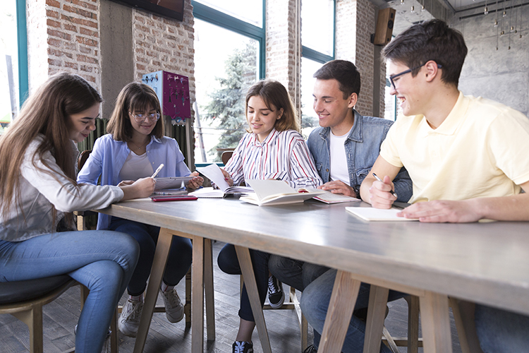
M 475 199 L 464 201 L 418 202 L 397 213 L 399 217 L 418 218 L 420 222 L 476 222 L 482 218 L 475 208 Z

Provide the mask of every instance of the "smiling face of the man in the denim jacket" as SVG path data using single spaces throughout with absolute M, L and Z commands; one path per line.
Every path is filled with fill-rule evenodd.
M 340 83 L 334 78 L 317 79 L 314 84 L 314 111 L 318 114 L 320 126 L 330 127 L 336 136 L 342 136 L 353 126 L 353 107 L 358 99 L 356 93 L 343 98 Z

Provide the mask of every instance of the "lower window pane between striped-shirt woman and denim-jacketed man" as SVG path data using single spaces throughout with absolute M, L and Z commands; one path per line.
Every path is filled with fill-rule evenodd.
M 314 128 L 320 126 L 318 116 L 312 108 L 312 103 L 314 102 L 312 91 L 314 90 L 314 83 L 316 81 L 312 75 L 322 65 L 316 61 L 301 58 L 301 128 L 305 139 L 308 138 Z

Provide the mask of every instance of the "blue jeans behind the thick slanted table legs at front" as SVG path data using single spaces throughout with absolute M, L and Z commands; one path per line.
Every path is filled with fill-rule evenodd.
M 327 308 L 329 301 L 331 301 L 332 287 L 334 286 L 334 279 L 336 278 L 336 270 L 328 270 L 326 273 L 317 278 L 314 282 L 308 285 L 301 295 L 300 306 L 308 323 L 314 328 L 314 345 L 320 343 L 320 335 L 323 331 L 325 316 L 327 315 Z M 362 283 L 358 291 L 358 299 L 356 299 L 355 310 L 367 308 L 369 304 L 369 290 L 370 285 Z M 388 301 L 393 301 L 404 297 L 406 294 L 389 291 Z M 381 333 L 382 334 L 382 333 Z M 364 349 L 365 337 L 365 322 L 357 318 L 351 317 L 351 323 L 346 334 L 346 340 L 343 342 L 341 352 L 343 353 L 362 353 Z M 380 352 L 391 353 L 391 350 L 382 344 Z

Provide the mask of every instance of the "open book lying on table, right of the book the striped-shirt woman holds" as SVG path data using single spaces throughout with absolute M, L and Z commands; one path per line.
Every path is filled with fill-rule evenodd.
M 318 189 L 302 188 L 296 190 L 281 180 L 250 179 L 247 180 L 246 183 L 252 186 L 255 193 L 241 196 L 241 200 L 260 206 L 303 202 L 325 192 Z

